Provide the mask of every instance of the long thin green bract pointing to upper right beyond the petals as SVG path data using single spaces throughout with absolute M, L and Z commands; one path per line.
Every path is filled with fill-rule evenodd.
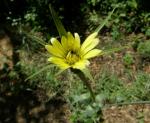
M 110 14 L 107 16 L 107 18 L 103 21 L 101 25 L 99 25 L 94 32 L 99 32 L 108 22 L 108 20 L 111 18 L 112 14 L 114 13 L 117 6 L 110 12 Z

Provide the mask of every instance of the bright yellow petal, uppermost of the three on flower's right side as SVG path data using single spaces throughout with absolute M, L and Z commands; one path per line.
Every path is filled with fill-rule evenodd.
M 93 40 L 95 39 L 95 37 L 97 36 L 97 32 L 92 33 L 91 35 L 89 35 L 86 40 L 83 42 L 82 46 L 81 46 L 81 50 L 83 51 L 86 47 L 88 47 L 91 43 L 93 43 Z

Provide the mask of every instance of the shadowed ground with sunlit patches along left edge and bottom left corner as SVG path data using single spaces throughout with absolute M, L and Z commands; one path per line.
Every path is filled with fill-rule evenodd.
M 44 90 L 29 89 L 24 82 L 25 75 L 14 67 L 19 44 L 10 37 L 0 30 L 0 123 L 69 123 L 69 110 L 61 97 L 44 102 Z M 12 71 L 17 74 L 12 76 Z

